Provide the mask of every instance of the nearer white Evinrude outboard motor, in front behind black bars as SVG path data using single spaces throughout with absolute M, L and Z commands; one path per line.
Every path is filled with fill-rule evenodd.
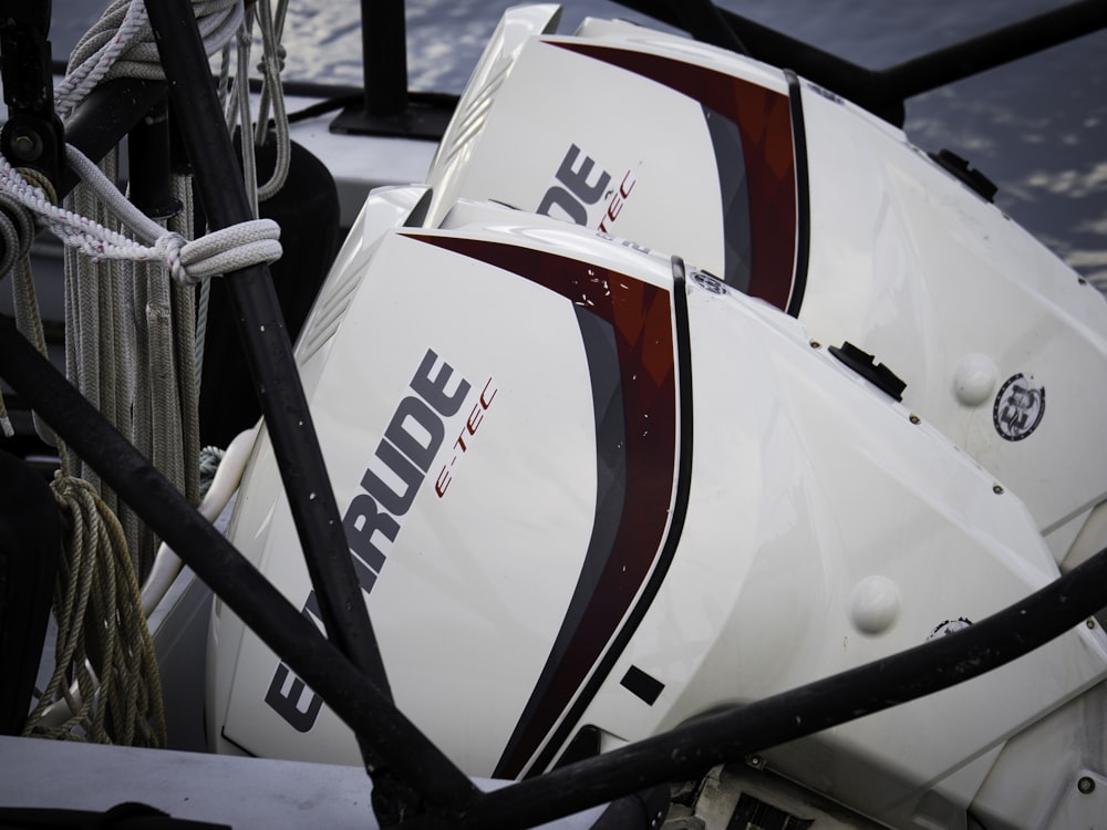
M 396 703 L 466 771 L 635 740 L 1057 575 L 1015 495 L 793 318 L 501 206 L 413 227 L 426 195 L 369 199 L 297 357 Z M 229 535 L 318 620 L 263 432 Z M 218 748 L 358 762 L 226 610 L 209 668 Z M 920 799 L 975 793 L 1010 736 L 1105 673 L 1082 626 L 767 758 L 910 827 Z

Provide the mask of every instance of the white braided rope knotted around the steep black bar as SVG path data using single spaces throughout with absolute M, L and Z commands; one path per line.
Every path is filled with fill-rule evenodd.
M 232 225 L 189 242 L 179 234 L 167 231 L 127 201 L 96 165 L 75 147 L 66 147 L 66 159 L 137 241 L 52 204 L 40 188 L 28 183 L 2 158 L 0 189 L 33 211 L 66 246 L 86 253 L 94 262 L 105 259 L 163 262 L 177 282 L 186 284 L 280 258 L 280 226 L 271 219 Z

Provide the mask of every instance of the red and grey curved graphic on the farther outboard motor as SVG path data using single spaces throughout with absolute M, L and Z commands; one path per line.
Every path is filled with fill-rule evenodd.
M 797 239 L 796 148 L 788 95 L 648 52 L 580 41 L 546 42 L 648 77 L 704 107 L 723 198 L 724 278 L 787 311 Z

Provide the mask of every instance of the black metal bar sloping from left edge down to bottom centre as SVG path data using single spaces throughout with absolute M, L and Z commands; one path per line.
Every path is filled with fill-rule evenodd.
M 452 815 L 480 793 L 365 674 L 281 593 L 64 376 L 0 315 L 3 377 L 219 598 L 428 805 Z

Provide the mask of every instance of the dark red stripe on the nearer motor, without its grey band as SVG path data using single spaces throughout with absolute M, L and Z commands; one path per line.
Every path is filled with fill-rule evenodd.
M 619 630 L 665 540 L 675 494 L 676 381 L 671 292 L 634 277 L 556 253 L 499 242 L 405 234 L 503 268 L 611 324 L 625 435 L 625 498 L 594 583 L 578 583 L 566 622 L 534 694 L 494 771 L 518 776 L 556 726 Z

